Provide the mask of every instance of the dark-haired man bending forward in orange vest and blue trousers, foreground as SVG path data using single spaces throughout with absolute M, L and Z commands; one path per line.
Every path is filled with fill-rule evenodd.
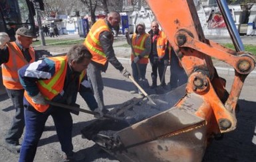
M 83 87 L 86 68 L 91 58 L 92 55 L 85 46 L 76 45 L 66 56 L 45 58 L 19 69 L 21 85 L 25 89 L 26 124 L 19 161 L 33 161 L 45 122 L 50 115 L 55 123 L 64 159 L 76 160 L 72 151 L 70 110 L 51 106 L 47 104 L 47 100 L 74 105 L 77 93 L 80 87 Z M 96 102 L 95 99 L 94 102 Z

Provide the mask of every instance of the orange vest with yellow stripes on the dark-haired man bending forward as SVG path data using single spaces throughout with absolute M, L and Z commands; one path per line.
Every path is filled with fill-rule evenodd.
M 53 75 L 51 79 L 43 79 L 37 81 L 37 87 L 45 99 L 52 100 L 54 97 L 59 95 L 61 91 L 63 91 L 68 61 L 66 56 L 53 57 L 49 59 L 55 61 L 55 75 Z M 80 74 L 79 85 L 85 74 L 85 70 Z M 39 112 L 45 112 L 49 108 L 49 104 L 35 104 L 31 97 L 28 95 L 27 91 L 25 91 L 24 97 Z

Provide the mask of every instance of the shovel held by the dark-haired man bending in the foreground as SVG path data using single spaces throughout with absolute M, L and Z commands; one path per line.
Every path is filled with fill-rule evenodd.
M 79 112 L 84 112 L 86 114 L 92 114 L 92 115 L 98 115 L 98 112 L 85 110 L 85 109 L 79 108 L 79 106 L 71 106 L 71 105 L 61 104 L 59 102 L 54 102 L 54 101 L 49 101 L 49 100 L 47 100 L 46 102 L 47 102 L 47 104 L 51 104 L 52 106 L 58 106 L 58 107 L 66 108 L 68 110 L 72 110 L 73 113 L 76 114 L 76 115 L 78 115 Z M 76 105 L 78 105 L 78 104 L 76 104 Z M 108 119 L 112 119 L 112 120 L 121 120 L 121 119 L 114 118 L 113 116 L 109 116 L 109 115 L 106 115 L 106 114 L 103 115 L 103 117 L 108 118 Z

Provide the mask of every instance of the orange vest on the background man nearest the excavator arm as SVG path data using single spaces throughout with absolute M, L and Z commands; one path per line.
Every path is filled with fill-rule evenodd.
M 164 32 L 162 32 L 160 30 L 158 39 L 156 40 L 156 49 L 158 51 L 158 58 L 159 59 L 164 58 L 165 50 L 166 50 L 166 44 L 167 44 L 166 34 L 164 34 Z

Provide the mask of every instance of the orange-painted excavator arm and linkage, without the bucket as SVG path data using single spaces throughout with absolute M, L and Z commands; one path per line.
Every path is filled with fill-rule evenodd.
M 237 100 L 245 77 L 255 67 L 255 58 L 247 52 L 235 52 L 205 39 L 193 1 L 148 0 L 148 5 L 189 77 L 188 93 L 195 93 L 204 101 L 194 114 L 208 123 L 217 124 L 219 128 L 216 130 L 216 126 L 213 126 L 214 129 L 208 129 L 207 134 L 234 130 L 237 123 Z M 225 61 L 235 69 L 230 94 L 225 90 L 221 78 L 217 76 L 211 57 Z M 202 80 L 203 85 L 198 78 Z M 178 102 L 178 107 L 182 108 L 183 102 Z

